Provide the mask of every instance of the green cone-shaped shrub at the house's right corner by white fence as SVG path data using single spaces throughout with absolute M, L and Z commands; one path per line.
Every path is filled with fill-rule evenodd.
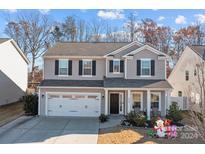
M 174 123 L 177 123 L 183 119 L 182 111 L 179 109 L 176 102 L 173 102 L 172 105 L 170 105 L 167 118 L 172 120 Z

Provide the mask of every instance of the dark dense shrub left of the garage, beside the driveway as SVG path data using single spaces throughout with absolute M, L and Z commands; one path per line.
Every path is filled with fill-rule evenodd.
M 38 95 L 25 95 L 22 97 L 24 103 L 24 111 L 26 115 L 38 114 Z

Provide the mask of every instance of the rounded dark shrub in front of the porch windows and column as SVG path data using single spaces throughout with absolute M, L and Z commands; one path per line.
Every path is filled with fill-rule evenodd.
M 146 124 L 146 117 L 142 113 L 130 112 L 125 118 L 133 126 L 144 127 Z

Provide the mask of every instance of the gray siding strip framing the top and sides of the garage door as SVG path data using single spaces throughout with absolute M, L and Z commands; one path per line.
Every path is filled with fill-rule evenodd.
M 70 88 L 43 88 L 40 89 L 40 115 L 45 116 L 45 110 L 46 110 L 46 92 L 83 92 L 83 93 L 101 93 L 101 113 L 105 113 L 105 100 L 104 100 L 104 90 L 100 89 L 70 89 Z M 44 97 L 41 97 L 44 95 Z

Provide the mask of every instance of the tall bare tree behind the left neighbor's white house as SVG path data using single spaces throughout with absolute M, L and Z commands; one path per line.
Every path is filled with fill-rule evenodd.
M 5 33 L 13 38 L 31 61 L 32 82 L 35 81 L 36 59 L 41 57 L 52 42 L 48 17 L 40 14 L 21 15 L 8 21 Z

